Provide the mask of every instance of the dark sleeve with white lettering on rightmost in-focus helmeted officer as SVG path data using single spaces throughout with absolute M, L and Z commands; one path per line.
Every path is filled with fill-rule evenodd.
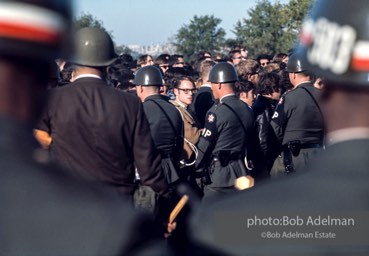
M 283 141 L 284 131 L 290 115 L 289 112 L 288 102 L 286 102 L 285 96 L 282 96 L 270 122 L 279 143 Z

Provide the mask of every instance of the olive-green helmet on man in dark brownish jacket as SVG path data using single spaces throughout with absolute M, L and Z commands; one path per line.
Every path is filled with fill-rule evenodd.
M 76 56 L 73 63 L 90 66 L 109 66 L 118 57 L 107 32 L 99 28 L 82 28 L 75 34 Z

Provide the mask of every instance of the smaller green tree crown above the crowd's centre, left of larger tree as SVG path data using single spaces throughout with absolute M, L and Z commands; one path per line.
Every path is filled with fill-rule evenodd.
M 201 50 L 219 51 L 225 42 L 225 31 L 218 28 L 221 19 L 213 15 L 194 16 L 189 25 L 184 25 L 175 35 L 174 45 L 186 60 L 194 60 Z

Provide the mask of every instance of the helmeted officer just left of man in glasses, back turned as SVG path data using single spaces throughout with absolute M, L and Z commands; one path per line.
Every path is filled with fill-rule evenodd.
M 173 185 L 180 176 L 178 168 L 184 143 L 182 117 L 169 102 L 169 97 L 160 94 L 163 77 L 159 68 L 146 66 L 139 69 L 134 84 L 143 102 L 155 147 L 162 158 L 162 170 L 167 182 Z

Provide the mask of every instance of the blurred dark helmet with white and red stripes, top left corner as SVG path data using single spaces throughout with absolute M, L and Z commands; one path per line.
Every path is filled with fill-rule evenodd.
M 0 0 L 0 54 L 51 61 L 71 51 L 71 1 Z

